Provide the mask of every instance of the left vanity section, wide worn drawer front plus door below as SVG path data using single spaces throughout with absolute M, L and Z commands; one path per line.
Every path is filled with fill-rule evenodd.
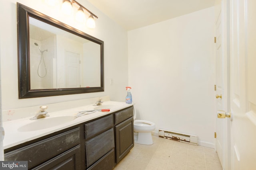
M 80 127 L 4 154 L 4 160 L 28 161 L 28 169 L 81 170 Z

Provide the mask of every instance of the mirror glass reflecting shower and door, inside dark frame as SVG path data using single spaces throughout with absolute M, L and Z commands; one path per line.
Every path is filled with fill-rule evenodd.
M 100 45 L 29 17 L 30 89 L 99 87 Z

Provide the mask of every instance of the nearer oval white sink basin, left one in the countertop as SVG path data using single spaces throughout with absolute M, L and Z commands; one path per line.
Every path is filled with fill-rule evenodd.
M 41 129 L 58 126 L 58 125 L 70 122 L 74 119 L 76 119 L 76 117 L 74 116 L 40 118 L 40 119 L 32 120 L 31 123 L 29 124 L 23 125 L 22 127 L 18 128 L 18 131 L 20 132 L 38 131 Z

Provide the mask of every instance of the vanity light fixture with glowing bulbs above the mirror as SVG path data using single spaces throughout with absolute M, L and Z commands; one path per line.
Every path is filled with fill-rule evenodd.
M 79 22 L 85 22 L 85 14 L 84 14 L 84 10 L 86 12 L 88 12 L 90 14 L 86 25 L 89 28 L 95 28 L 95 21 L 94 21 L 94 17 L 98 18 L 95 14 L 93 14 L 92 12 L 90 12 L 87 8 L 85 8 L 84 6 L 82 6 L 80 3 L 76 2 L 76 0 L 63 0 L 62 1 L 62 12 L 64 14 L 67 15 L 71 15 L 73 13 L 73 4 L 75 4 L 78 8 L 76 14 L 75 14 L 75 19 L 76 21 Z

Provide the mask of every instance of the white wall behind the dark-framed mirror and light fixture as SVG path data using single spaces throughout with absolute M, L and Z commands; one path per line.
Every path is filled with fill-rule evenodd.
M 59 3 L 62 2 L 62 0 L 59 1 Z M 44 0 L 4 0 L 1 2 L 0 68 L 3 110 L 107 95 L 111 96 L 111 100 L 124 101 L 125 86 L 128 85 L 127 31 L 110 20 L 110 18 L 92 6 L 87 0 L 77 1 L 98 16 L 98 19 L 95 20 L 95 29 L 88 29 L 85 24 L 81 25 L 74 21 L 73 18 L 64 16 L 59 8 L 47 6 L 44 4 Z M 104 41 L 104 92 L 18 99 L 16 2 Z M 110 80 L 112 80 L 112 85 L 110 85 Z

